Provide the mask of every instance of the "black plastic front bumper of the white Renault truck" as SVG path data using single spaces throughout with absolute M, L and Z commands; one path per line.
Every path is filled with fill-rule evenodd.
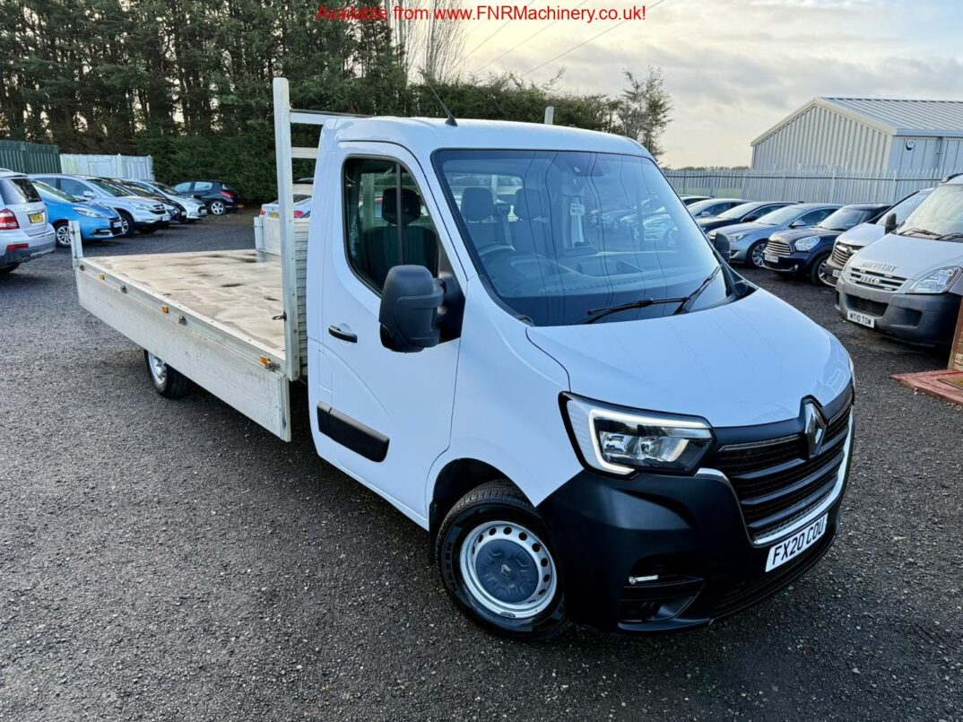
M 584 471 L 569 480 L 538 511 L 558 553 L 570 618 L 609 631 L 680 630 L 785 588 L 825 554 L 839 528 L 853 436 L 851 416 L 846 420 L 845 441 L 832 451 L 842 461 L 831 472 L 831 495 L 759 543 L 747 529 L 745 500 L 717 471 L 629 480 Z M 769 549 L 823 514 L 819 540 L 766 572 Z

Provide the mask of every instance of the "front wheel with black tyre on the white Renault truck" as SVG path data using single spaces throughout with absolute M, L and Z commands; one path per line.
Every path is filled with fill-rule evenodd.
M 481 627 L 541 640 L 571 626 L 548 534 L 507 480 L 482 484 L 455 503 L 438 529 L 435 553 L 445 589 Z

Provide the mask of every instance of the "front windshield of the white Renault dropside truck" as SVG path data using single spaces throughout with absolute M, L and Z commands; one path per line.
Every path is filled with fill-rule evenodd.
M 646 158 L 532 150 L 444 150 L 435 167 L 490 289 L 535 325 L 674 313 L 718 267 L 695 221 Z M 724 274 L 688 310 L 727 295 Z

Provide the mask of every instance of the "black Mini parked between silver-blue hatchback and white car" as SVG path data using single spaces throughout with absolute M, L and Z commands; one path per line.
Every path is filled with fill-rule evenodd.
M 851 203 L 826 216 L 812 228 L 790 228 L 773 233 L 766 244 L 763 266 L 784 275 L 802 275 L 812 283 L 825 280 L 826 262 L 839 235 L 860 223 L 878 219 L 889 205 Z

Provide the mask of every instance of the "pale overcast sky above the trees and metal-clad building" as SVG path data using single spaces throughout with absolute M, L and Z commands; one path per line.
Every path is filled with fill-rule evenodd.
M 490 0 L 492 4 L 500 0 Z M 514 0 L 524 4 L 524 0 Z M 474 0 L 465 0 L 474 2 Z M 574 7 L 579 0 L 532 0 Z M 586 0 L 583 7 L 625 7 Z M 747 165 L 749 142 L 817 95 L 963 100 L 963 0 L 655 0 L 627 22 L 527 76 L 617 93 L 620 71 L 663 68 L 674 111 L 663 164 Z M 472 23 L 471 51 L 502 23 Z M 480 68 L 544 23 L 512 22 L 465 61 Z M 610 23 L 611 24 L 611 23 Z M 606 28 L 561 21 L 490 64 L 525 72 Z

